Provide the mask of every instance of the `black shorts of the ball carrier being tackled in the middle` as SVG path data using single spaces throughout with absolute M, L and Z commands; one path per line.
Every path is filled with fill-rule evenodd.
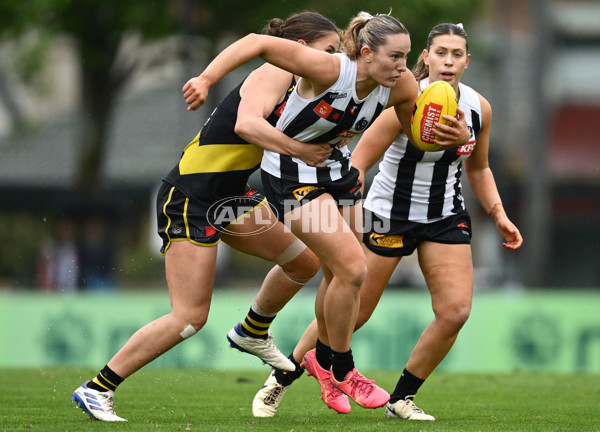
M 348 174 L 339 180 L 308 184 L 275 177 L 261 170 L 265 194 L 280 221 L 283 221 L 285 213 L 325 193 L 333 197 L 338 207 L 356 205 L 361 199 L 362 186 L 358 174 L 358 170 L 351 167 Z

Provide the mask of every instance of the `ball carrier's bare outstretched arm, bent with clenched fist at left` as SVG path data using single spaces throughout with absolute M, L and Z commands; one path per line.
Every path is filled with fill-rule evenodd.
M 283 38 L 251 33 L 225 48 L 199 76 L 183 86 L 188 110 L 200 108 L 213 85 L 256 57 L 318 85 L 333 84 L 339 74 L 338 60 L 324 51 Z

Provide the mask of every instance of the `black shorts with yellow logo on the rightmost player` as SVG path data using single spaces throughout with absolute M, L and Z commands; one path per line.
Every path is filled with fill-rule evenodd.
M 466 210 L 437 222 L 423 224 L 381 218 L 364 209 L 363 243 L 386 257 L 411 255 L 422 241 L 471 244 L 471 217 Z

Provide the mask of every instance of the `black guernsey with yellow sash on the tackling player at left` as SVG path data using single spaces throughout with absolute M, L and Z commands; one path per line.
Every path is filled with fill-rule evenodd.
M 190 199 L 210 205 L 221 198 L 243 195 L 248 177 L 260 166 L 263 149 L 244 141 L 234 131 L 242 84 L 219 103 L 165 177 Z M 292 79 L 284 100 L 267 117 L 273 126 L 295 84 Z

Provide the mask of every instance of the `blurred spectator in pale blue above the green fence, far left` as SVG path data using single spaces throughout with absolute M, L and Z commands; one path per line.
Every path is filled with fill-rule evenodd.
M 42 290 L 73 292 L 79 289 L 77 225 L 60 218 L 54 235 L 44 241 L 37 259 L 36 286 Z

